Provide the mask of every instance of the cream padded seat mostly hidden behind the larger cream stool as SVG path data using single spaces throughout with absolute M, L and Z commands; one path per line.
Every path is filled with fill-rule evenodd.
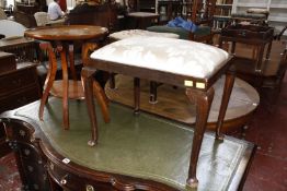
M 156 33 L 156 32 L 149 32 L 145 29 L 126 29 L 122 32 L 116 32 L 110 35 L 111 38 L 114 38 L 116 40 L 118 39 L 125 39 L 130 37 L 167 37 L 167 38 L 179 38 L 180 36 L 173 33 Z

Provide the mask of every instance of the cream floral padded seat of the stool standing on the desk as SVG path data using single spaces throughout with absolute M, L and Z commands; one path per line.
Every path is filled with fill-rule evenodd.
M 92 59 L 207 79 L 226 64 L 228 52 L 202 43 L 131 37 L 95 50 Z

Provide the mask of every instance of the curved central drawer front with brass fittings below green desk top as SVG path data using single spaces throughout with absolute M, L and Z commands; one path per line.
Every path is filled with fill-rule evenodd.
M 87 179 L 77 175 L 77 172 L 65 170 L 51 162 L 48 163 L 48 171 L 49 176 L 65 190 L 116 191 L 110 183 Z

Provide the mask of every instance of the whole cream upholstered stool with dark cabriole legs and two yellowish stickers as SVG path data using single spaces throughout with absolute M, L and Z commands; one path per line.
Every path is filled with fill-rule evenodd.
M 197 187 L 196 166 L 203 135 L 214 98 L 214 84 L 226 75 L 222 102 L 217 122 L 216 138 L 222 140 L 221 126 L 225 119 L 234 76 L 227 72 L 230 67 L 228 52 L 214 46 L 174 38 L 130 37 L 112 43 L 92 52 L 87 44 L 83 48 L 82 81 L 91 118 L 92 139 L 97 141 L 97 123 L 93 100 L 93 73 L 96 70 L 120 73 L 135 77 L 135 111 L 139 112 L 139 79 L 185 87 L 190 100 L 196 103 L 195 135 L 190 160 L 187 187 Z M 111 116 L 111 118 L 113 118 Z

